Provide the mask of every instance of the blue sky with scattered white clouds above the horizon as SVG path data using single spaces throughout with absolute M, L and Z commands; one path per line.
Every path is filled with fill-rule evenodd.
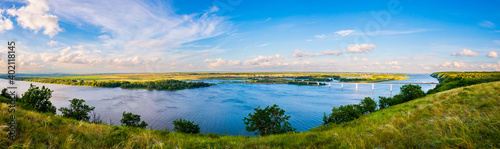
M 17 73 L 500 71 L 500 1 L 2 0 Z

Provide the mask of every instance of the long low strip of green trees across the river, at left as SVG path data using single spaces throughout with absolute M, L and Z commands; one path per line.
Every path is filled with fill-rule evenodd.
M 65 85 L 79 85 L 79 86 L 93 86 L 93 87 L 120 87 L 120 88 L 143 88 L 149 90 L 182 90 L 190 88 L 208 87 L 213 84 L 204 82 L 185 82 L 179 80 L 156 80 L 156 81 L 143 81 L 143 82 L 130 82 L 130 81 L 84 81 L 74 79 L 60 79 L 60 78 L 26 78 L 23 81 L 51 83 L 51 84 L 65 84 Z

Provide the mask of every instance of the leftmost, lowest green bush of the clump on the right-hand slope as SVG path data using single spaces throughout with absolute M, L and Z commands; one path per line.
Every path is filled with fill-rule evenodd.
M 329 116 L 324 114 L 323 125 L 329 125 L 331 123 L 340 124 L 343 122 L 349 122 L 357 119 L 361 116 L 361 111 L 356 109 L 356 105 L 343 105 L 338 108 L 333 107 L 332 113 Z

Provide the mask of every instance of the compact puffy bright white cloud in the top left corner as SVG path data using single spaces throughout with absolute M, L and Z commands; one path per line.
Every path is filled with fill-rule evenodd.
M 51 38 L 61 32 L 57 21 L 59 18 L 55 15 L 47 13 L 49 5 L 45 0 L 28 0 L 28 4 L 19 9 L 8 9 L 7 13 L 11 16 L 17 16 L 17 23 L 25 28 L 33 30 L 37 33 L 39 30 L 44 30 L 43 34 L 49 35 Z

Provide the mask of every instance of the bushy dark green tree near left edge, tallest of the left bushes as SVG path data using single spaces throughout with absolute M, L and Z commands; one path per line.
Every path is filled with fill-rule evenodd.
M 52 105 L 49 98 L 52 97 L 53 90 L 39 87 L 30 84 L 30 88 L 26 91 L 20 100 L 22 107 L 25 109 L 36 110 L 38 112 L 51 112 L 56 114 L 56 107 Z

